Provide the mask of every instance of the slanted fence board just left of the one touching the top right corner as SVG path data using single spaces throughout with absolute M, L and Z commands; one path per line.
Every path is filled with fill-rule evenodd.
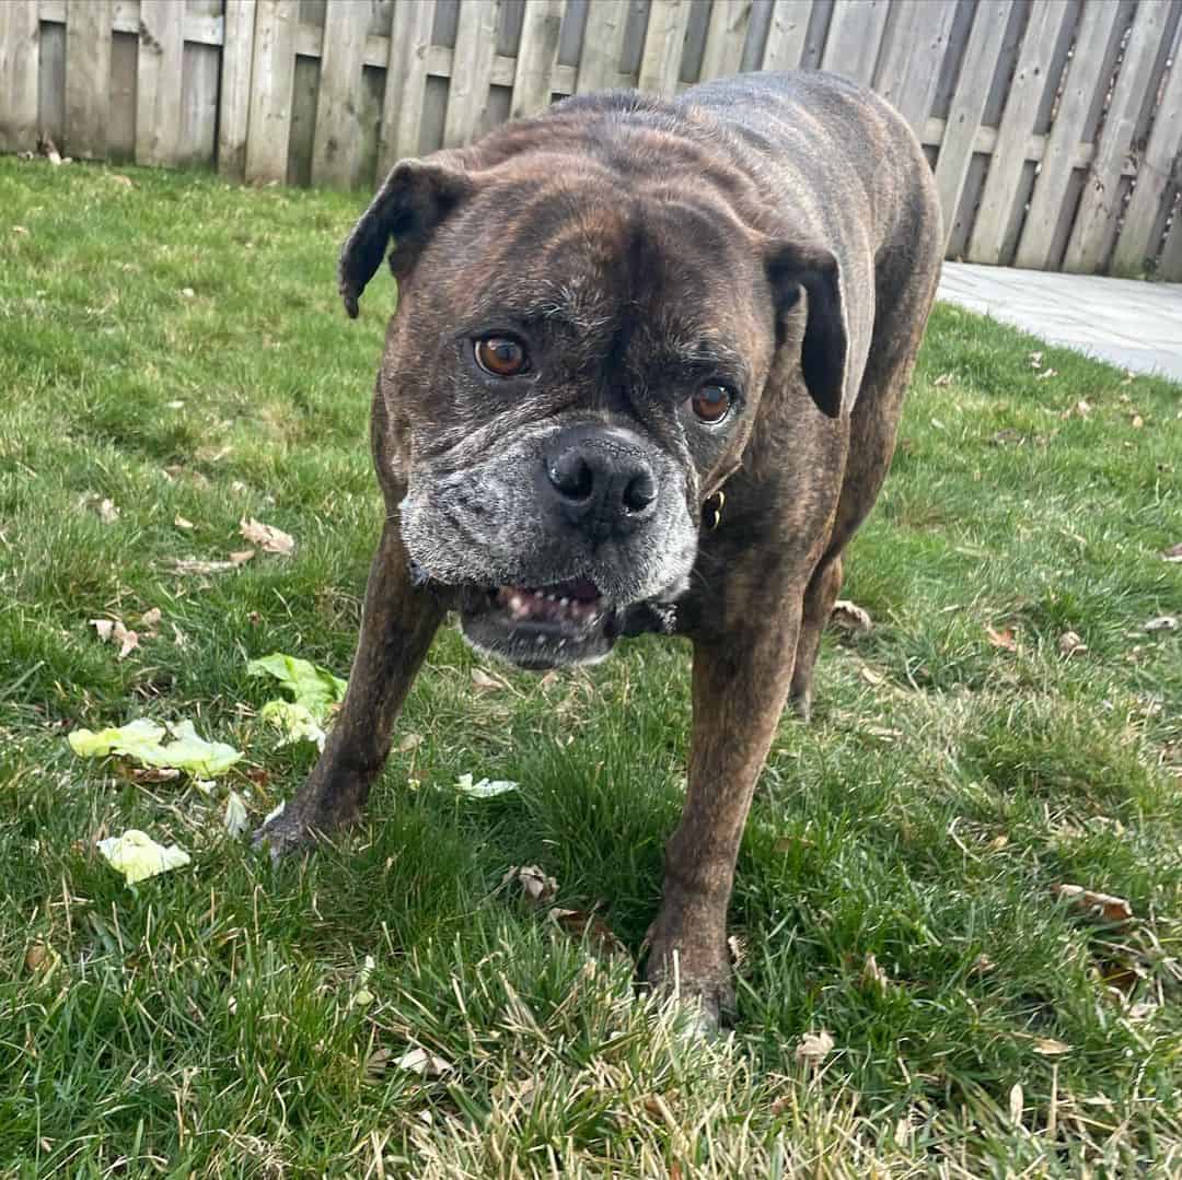
M 1112 74 L 1125 27 L 1128 5 L 1087 4 L 1076 32 L 1076 48 L 1059 99 L 1059 110 L 1047 136 L 1041 167 L 1034 180 L 1030 209 L 1018 240 L 1014 266 L 1044 270 L 1053 265 L 1052 254 L 1060 235 L 1064 209 L 1072 193 L 1074 155 L 1085 124 L 1103 87 Z

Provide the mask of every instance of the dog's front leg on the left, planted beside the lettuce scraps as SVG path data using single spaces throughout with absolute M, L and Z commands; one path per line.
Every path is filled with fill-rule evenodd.
M 435 595 L 411 584 L 397 520 L 388 520 L 365 587 L 349 689 L 316 769 L 256 841 L 274 858 L 361 816 L 390 752 L 390 731 L 443 617 Z

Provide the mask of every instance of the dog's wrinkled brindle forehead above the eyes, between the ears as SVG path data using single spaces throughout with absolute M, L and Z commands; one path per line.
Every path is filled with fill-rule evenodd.
M 650 346 L 752 344 L 766 280 L 749 235 L 720 204 L 553 183 L 482 194 L 463 220 L 480 227 L 465 235 L 460 293 L 473 322 L 509 317 L 589 338 L 631 327 Z

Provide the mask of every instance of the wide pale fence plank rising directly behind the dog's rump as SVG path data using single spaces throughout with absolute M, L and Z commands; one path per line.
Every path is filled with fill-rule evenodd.
M 873 86 L 918 133 L 931 112 L 956 0 L 894 0 Z

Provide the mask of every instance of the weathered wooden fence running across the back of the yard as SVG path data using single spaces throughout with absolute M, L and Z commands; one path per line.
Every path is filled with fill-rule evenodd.
M 0 0 L 0 150 L 371 188 L 603 86 L 836 70 L 924 143 L 948 255 L 1182 280 L 1182 0 Z

